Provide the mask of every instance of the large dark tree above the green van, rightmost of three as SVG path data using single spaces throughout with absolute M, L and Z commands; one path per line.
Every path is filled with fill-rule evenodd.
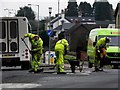
M 108 2 L 95 2 L 93 7 L 95 20 L 113 20 L 111 5 Z

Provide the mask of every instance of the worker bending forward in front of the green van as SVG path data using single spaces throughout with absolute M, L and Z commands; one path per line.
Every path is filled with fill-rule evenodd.
M 107 43 L 110 42 L 110 38 L 100 38 L 95 45 L 95 71 L 103 71 L 103 62 L 106 57 Z

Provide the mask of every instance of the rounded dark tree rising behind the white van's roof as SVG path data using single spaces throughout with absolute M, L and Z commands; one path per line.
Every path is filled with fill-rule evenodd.
M 31 7 L 20 7 L 20 10 L 17 12 L 17 17 L 19 16 L 25 16 L 27 17 L 28 20 L 34 20 L 35 19 L 35 14 L 34 11 L 31 9 Z

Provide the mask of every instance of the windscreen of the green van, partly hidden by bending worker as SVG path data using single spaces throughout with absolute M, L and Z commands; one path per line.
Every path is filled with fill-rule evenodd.
M 120 36 L 99 36 L 99 39 L 103 37 L 111 38 L 111 42 L 108 44 L 109 46 L 120 46 L 120 43 L 119 43 Z

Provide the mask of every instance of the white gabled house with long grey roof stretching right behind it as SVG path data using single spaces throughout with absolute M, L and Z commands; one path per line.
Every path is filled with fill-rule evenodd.
M 94 24 L 94 22 L 94 17 L 65 17 L 65 12 L 61 10 L 61 13 L 50 23 L 52 24 L 53 31 L 56 31 L 55 37 L 58 37 L 61 31 L 69 30 L 75 23 Z M 47 30 L 49 30 L 49 24 Z

